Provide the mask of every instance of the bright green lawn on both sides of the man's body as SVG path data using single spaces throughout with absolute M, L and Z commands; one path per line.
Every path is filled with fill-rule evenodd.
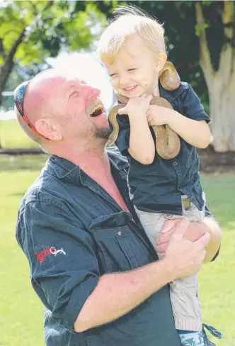
M 46 158 L 46 155 L 0 156 L 0 346 L 45 345 L 44 309 L 30 286 L 28 262 L 16 242 L 15 224 L 21 198 Z M 202 177 L 207 204 L 223 230 L 219 258 L 200 272 L 204 320 L 224 333 L 217 346 L 235 346 L 234 178 L 235 174 Z

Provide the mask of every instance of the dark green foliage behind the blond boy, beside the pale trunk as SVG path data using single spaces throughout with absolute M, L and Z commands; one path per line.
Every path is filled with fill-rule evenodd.
M 195 3 L 196 1 L 125 1 L 125 4 L 139 6 L 160 23 L 164 23 L 168 59 L 178 69 L 181 79 L 190 82 L 197 94 L 208 102 L 207 86 L 199 65 Z M 108 18 L 112 17 L 112 9 L 116 6 L 117 1 L 98 1 L 98 9 Z M 202 9 L 212 65 L 217 70 L 219 53 L 227 40 L 222 23 L 224 1 L 202 1 Z

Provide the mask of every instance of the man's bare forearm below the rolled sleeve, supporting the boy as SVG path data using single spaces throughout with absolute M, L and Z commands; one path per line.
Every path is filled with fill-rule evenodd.
M 74 329 L 79 333 L 125 315 L 172 279 L 164 261 L 131 272 L 103 275 L 84 303 Z

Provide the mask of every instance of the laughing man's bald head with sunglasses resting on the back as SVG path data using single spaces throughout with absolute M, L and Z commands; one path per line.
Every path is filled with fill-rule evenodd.
M 14 92 L 18 123 L 45 151 L 98 145 L 108 139 L 100 91 L 84 81 L 47 69 Z M 58 152 L 57 152 L 58 154 Z

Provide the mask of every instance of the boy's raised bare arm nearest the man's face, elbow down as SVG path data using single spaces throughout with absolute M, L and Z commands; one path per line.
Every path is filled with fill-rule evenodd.
M 151 164 L 154 161 L 155 145 L 149 130 L 147 110 L 152 96 L 141 96 L 130 99 L 127 106 L 118 111 L 127 114 L 130 121 L 130 145 L 128 152 L 142 164 Z

